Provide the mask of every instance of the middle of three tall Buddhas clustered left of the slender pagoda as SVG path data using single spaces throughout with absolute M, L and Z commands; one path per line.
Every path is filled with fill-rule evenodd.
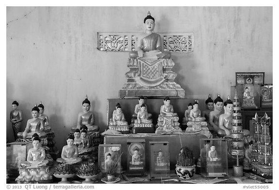
M 223 99 L 220 97 L 220 93 L 218 93 L 217 98 L 214 100 L 214 111 L 209 113 L 209 130 L 211 132 L 217 132 L 219 129 L 219 117 L 222 114 L 223 108 Z

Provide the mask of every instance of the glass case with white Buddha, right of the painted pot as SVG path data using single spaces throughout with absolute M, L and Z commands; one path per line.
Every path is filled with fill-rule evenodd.
M 201 175 L 228 177 L 228 144 L 225 139 L 201 139 Z

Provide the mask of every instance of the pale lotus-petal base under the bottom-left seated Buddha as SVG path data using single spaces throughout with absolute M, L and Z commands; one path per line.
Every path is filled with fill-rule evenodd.
M 51 183 L 52 175 L 49 173 L 49 166 L 37 168 L 19 167 L 19 176 L 16 178 L 17 183 Z

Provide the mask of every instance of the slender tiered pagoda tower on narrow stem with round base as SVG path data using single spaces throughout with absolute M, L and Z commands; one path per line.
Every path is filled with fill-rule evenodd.
M 233 138 L 231 141 L 231 154 L 236 158 L 236 165 L 233 165 L 233 176 L 243 176 L 243 166 L 239 164 L 239 157 L 243 157 L 245 155 L 243 141 L 244 134 L 242 128 L 241 106 L 236 91 L 233 98 L 233 122 L 231 137 Z

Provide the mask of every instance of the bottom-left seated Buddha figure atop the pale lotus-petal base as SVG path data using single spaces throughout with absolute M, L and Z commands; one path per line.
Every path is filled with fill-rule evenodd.
M 33 147 L 29 149 L 27 155 L 27 161 L 20 163 L 21 167 L 26 168 L 38 168 L 41 166 L 46 166 L 48 161 L 45 160 L 46 152 L 42 147 L 41 139 L 38 136 L 35 136 L 32 139 Z

